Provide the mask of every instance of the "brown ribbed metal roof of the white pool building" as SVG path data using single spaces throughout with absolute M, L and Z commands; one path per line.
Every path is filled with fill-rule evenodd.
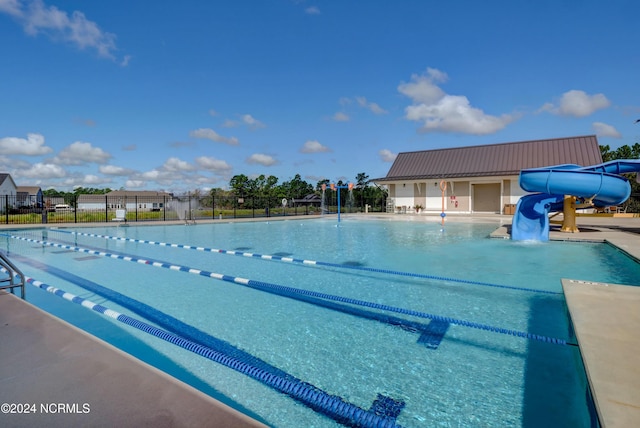
M 386 177 L 372 181 L 518 175 L 528 168 L 602 163 L 595 135 L 399 153 Z

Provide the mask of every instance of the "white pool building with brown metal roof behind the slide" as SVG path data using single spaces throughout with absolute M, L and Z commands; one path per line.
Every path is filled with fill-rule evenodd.
M 527 192 L 520 171 L 561 164 L 602 163 L 595 135 L 399 153 L 386 177 L 387 212 L 502 213 Z

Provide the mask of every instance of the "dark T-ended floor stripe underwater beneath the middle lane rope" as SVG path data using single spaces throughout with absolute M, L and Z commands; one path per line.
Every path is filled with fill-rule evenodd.
M 71 245 L 75 246 L 76 244 L 76 243 L 64 241 L 62 239 L 51 240 L 51 243 L 56 243 L 56 244 L 65 245 L 65 246 L 71 246 Z M 79 247 L 76 247 L 76 248 L 79 248 Z M 92 247 L 92 246 L 87 246 L 86 248 L 95 252 L 102 252 L 104 250 L 103 248 Z M 61 252 L 55 252 L 55 253 L 61 253 Z M 78 261 L 91 260 L 90 257 L 97 258 L 97 256 L 87 256 L 87 257 L 77 257 L 75 258 L 75 260 L 78 260 Z M 135 254 L 118 253 L 118 258 L 122 258 L 122 257 L 130 257 L 132 259 L 139 258 L 139 256 Z M 154 260 L 154 262 L 162 263 L 164 265 L 172 265 L 172 263 L 170 262 L 165 262 L 161 260 Z M 302 294 L 292 294 L 287 292 L 286 290 L 281 290 L 281 289 L 268 288 L 268 289 L 260 289 L 258 291 L 264 291 L 266 293 L 274 294 L 276 296 L 281 296 L 281 297 L 289 298 L 292 300 L 297 300 L 299 302 L 320 306 L 333 311 L 342 312 L 347 315 L 353 315 L 356 317 L 365 318 L 372 321 L 378 321 L 384 324 L 389 324 L 394 327 L 400 327 L 403 330 L 408 332 L 419 333 L 420 336 L 418 337 L 418 340 L 416 343 L 420 345 L 424 345 L 427 349 L 433 349 L 433 350 L 438 349 L 449 327 L 449 323 L 445 321 L 431 320 L 428 324 L 423 324 L 415 321 L 405 320 L 403 318 L 395 317 L 393 315 L 380 314 L 377 312 L 359 309 L 353 306 L 347 306 L 344 304 L 335 303 L 330 300 L 324 300 L 318 297 L 306 296 Z

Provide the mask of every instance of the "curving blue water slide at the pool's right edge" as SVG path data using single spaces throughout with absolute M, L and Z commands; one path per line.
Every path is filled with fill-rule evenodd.
M 631 195 L 631 185 L 620 174 L 640 171 L 640 160 L 626 159 L 583 167 L 556 165 L 520 171 L 520 187 L 527 192 L 518 201 L 511 239 L 549 240 L 549 212 L 562 211 L 564 196 L 591 201 L 596 207 L 619 205 Z

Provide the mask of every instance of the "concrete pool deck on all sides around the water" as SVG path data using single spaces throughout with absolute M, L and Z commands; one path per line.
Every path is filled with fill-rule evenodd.
M 365 217 L 439 221 L 435 215 Z M 460 215 L 449 216 L 447 221 L 499 221 L 502 226 L 492 233 L 492 238 L 509 238 L 511 216 Z M 578 217 L 578 226 L 579 233 L 552 230 L 550 239 L 608 242 L 640 260 L 640 218 Z M 0 226 L 3 228 L 16 226 Z M 583 274 L 583 278 L 563 279 L 562 286 L 600 423 L 604 427 L 638 426 L 640 287 L 592 283 L 588 272 Z M 17 296 L 2 292 L 0 358 L 0 404 L 35 404 L 37 410 L 32 414 L 1 413 L 3 427 L 264 426 Z M 43 413 L 47 408 L 58 409 L 59 403 L 63 411 Z

